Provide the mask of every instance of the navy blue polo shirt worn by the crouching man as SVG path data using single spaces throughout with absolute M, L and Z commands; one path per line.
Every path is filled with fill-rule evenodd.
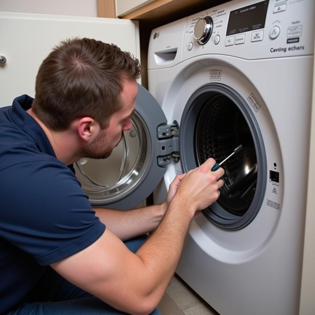
M 105 225 L 59 161 L 22 95 L 0 108 L 0 314 L 17 305 L 47 265 L 94 243 Z

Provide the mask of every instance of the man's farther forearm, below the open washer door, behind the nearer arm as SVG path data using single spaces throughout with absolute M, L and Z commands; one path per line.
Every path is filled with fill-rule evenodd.
M 165 213 L 164 204 L 133 210 L 94 209 L 106 227 L 121 240 L 153 231 Z

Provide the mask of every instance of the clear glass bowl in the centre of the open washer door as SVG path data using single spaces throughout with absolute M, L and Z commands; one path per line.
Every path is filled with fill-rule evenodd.
M 151 155 L 146 124 L 135 112 L 133 128 L 106 159 L 83 158 L 75 163 L 76 176 L 93 205 L 114 203 L 131 193 L 143 178 Z

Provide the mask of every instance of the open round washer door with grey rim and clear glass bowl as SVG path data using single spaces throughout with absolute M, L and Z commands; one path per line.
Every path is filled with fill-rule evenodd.
M 157 165 L 157 126 L 166 117 L 154 97 L 140 84 L 133 128 L 107 159 L 82 158 L 74 164 L 76 176 L 93 206 L 132 209 L 157 186 L 166 168 Z

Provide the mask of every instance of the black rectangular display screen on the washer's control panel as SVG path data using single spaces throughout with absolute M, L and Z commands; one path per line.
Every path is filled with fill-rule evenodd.
M 259 30 L 265 27 L 269 0 L 231 11 L 226 35 Z

